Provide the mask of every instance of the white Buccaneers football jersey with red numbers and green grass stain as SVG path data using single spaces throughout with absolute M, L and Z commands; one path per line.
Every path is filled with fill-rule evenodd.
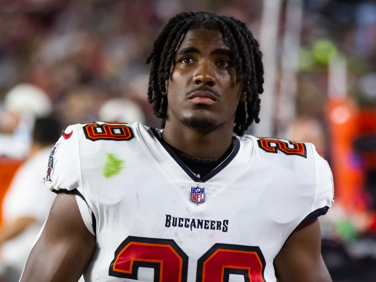
M 52 150 L 47 187 L 77 195 L 97 239 L 85 281 L 275 282 L 291 232 L 332 205 L 327 162 L 310 143 L 246 135 L 199 178 L 160 136 L 76 124 Z

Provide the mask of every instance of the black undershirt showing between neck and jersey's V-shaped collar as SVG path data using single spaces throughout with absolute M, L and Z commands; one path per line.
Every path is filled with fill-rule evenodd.
M 214 168 L 221 164 L 232 152 L 234 147 L 234 141 L 231 142 L 229 148 L 224 152 L 224 154 L 218 159 L 198 159 L 192 158 L 184 155 L 182 151 L 176 149 L 175 147 L 168 144 L 164 141 L 163 137 L 161 138 L 161 143 L 167 145 L 176 156 L 194 173 L 197 177 L 201 178 L 210 173 Z

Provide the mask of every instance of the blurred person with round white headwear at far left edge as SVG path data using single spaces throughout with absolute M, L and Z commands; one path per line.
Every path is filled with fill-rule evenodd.
M 31 84 L 19 84 L 5 96 L 0 112 L 0 156 L 24 158 L 29 150 L 32 128 L 37 117 L 52 111 L 45 92 Z

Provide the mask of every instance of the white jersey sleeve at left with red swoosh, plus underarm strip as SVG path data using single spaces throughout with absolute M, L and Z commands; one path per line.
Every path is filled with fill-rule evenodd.
M 68 126 L 51 151 L 45 185 L 57 194 L 76 195 L 82 219 L 88 230 L 95 235 L 93 213 L 83 193 L 79 145 L 76 126 Z

